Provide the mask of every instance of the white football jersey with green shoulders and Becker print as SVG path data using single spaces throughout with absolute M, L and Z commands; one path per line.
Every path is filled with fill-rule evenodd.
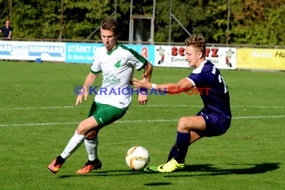
M 107 52 L 104 46 L 96 48 L 91 72 L 102 72 L 103 80 L 100 89 L 96 90 L 94 101 L 118 108 L 128 107 L 131 102 L 129 81 L 133 70 L 140 70 L 146 64 L 143 56 L 121 43 L 111 52 Z

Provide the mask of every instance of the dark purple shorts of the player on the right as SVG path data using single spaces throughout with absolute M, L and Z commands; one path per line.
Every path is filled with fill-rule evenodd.
M 198 112 L 197 115 L 201 115 L 206 122 L 206 130 L 197 132 L 200 136 L 218 136 L 225 133 L 230 126 L 231 117 L 226 118 L 218 113 Z

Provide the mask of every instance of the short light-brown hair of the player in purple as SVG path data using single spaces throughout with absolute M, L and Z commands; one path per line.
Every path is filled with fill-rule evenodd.
M 187 37 L 184 43 L 186 46 L 197 47 L 203 53 L 203 57 L 206 56 L 206 40 L 204 36 L 193 34 L 192 36 Z

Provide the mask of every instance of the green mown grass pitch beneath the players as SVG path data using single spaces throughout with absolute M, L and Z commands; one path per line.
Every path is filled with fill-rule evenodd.
M 100 170 L 75 174 L 87 161 L 82 144 L 52 174 L 47 165 L 61 153 L 94 95 L 74 106 L 90 64 L 0 61 L 0 189 L 283 189 L 285 152 L 284 72 L 221 70 L 228 85 L 228 131 L 189 147 L 185 169 L 172 173 L 132 171 L 125 153 L 141 145 L 150 165 L 166 161 L 181 116 L 202 108 L 198 95 L 137 96 L 127 113 L 99 132 Z M 153 68 L 152 81 L 178 81 L 191 68 Z M 135 76 L 140 77 L 140 72 Z M 101 84 L 101 78 L 94 83 Z

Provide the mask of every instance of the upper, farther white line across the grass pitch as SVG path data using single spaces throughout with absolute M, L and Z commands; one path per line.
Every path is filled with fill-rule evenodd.
M 203 105 L 155 105 L 155 104 L 147 104 L 147 105 L 138 105 L 133 104 L 131 106 L 146 106 L 146 107 L 203 107 Z M 61 109 L 61 108 L 76 108 L 76 107 L 90 107 L 90 105 L 65 105 L 65 106 L 43 106 L 43 107 L 12 107 L 12 108 L 0 108 L 0 110 L 26 110 L 26 109 Z M 246 105 L 231 105 L 230 107 L 241 107 L 241 108 L 285 108 L 285 106 L 246 106 Z

